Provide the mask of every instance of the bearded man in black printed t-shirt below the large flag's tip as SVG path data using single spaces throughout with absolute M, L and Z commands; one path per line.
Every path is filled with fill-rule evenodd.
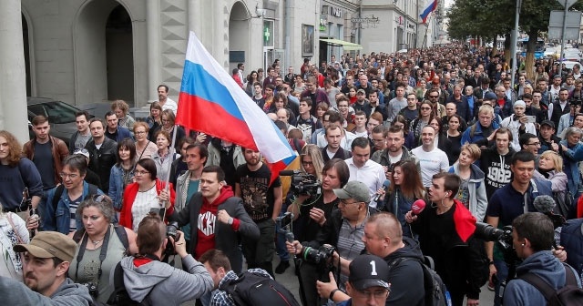
M 235 196 L 243 199 L 243 206 L 261 232 L 259 240 L 243 237 L 241 245 L 248 268 L 261 268 L 273 274 L 275 254 L 275 219 L 280 215 L 282 193 L 281 180 L 271 182 L 271 170 L 261 161 L 261 153 L 243 148 L 245 164 L 237 168 Z

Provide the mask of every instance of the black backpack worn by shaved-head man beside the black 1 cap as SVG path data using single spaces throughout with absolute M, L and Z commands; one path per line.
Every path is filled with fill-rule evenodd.
M 389 269 L 398 266 L 406 260 L 415 260 L 421 264 L 423 268 L 423 283 L 424 283 L 424 305 L 425 306 L 447 306 L 451 305 L 451 297 L 444 280 L 435 272 L 434 260 L 429 256 L 424 256 L 424 262 L 410 257 L 401 257 L 393 260 L 389 265 Z

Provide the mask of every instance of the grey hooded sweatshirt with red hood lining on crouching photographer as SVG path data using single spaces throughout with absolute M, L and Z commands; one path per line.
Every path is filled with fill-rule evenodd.
M 192 255 L 182 259 L 185 270 L 159 260 L 126 257 L 121 260 L 129 298 L 145 305 L 180 305 L 212 291 L 213 281 Z

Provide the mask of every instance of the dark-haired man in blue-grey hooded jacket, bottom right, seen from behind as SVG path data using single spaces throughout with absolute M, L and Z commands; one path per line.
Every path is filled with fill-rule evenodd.
M 553 292 L 568 285 L 573 286 L 568 291 L 578 288 L 580 299 L 583 291 L 577 272 L 561 264 L 550 250 L 554 244 L 553 222 L 542 213 L 527 212 L 512 221 L 512 228 L 514 249 L 524 261 L 517 266 L 517 279 L 506 285 L 504 305 L 546 305 L 547 302 L 550 305 L 544 289 Z M 566 305 L 573 305 L 574 301 Z

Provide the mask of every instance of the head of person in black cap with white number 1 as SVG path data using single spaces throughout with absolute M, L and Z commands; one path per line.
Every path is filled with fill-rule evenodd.
M 389 266 L 381 258 L 374 255 L 356 257 L 350 264 L 350 278 L 346 281 L 346 292 L 351 299 L 338 305 L 384 305 L 391 291 L 391 284 L 386 281 L 388 276 Z

